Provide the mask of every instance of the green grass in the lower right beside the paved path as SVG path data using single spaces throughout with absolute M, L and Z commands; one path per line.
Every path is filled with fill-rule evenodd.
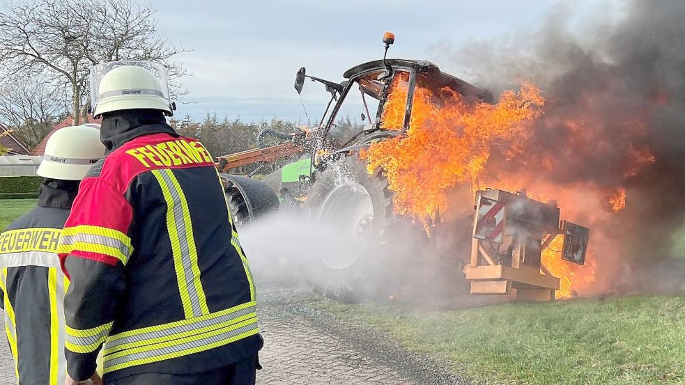
M 417 312 L 316 302 L 506 384 L 685 384 L 685 298 L 615 297 Z

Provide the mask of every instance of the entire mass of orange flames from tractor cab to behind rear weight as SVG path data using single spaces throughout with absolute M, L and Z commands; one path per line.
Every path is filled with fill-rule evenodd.
M 408 76 L 400 74 L 394 78 L 384 106 L 385 129 L 403 128 L 407 93 Z M 628 150 L 620 159 L 612 152 L 610 164 L 615 167 L 612 175 L 617 175 L 616 179 L 637 175 L 655 162 L 655 157 L 647 148 L 629 143 L 627 134 L 615 142 L 603 140 L 600 133 L 606 132 L 607 126 L 593 119 L 592 113 L 541 120 L 545 105 L 539 88 L 527 83 L 518 92 L 501 93 L 497 104 L 468 102 L 447 87 L 417 86 L 408 132 L 372 143 L 361 156 L 367 159 L 369 172 L 383 171 L 394 191 L 397 214 L 420 219 L 424 226 L 428 219 L 449 210 L 449 189 L 464 184 L 472 191 L 528 188 L 530 198 L 557 201 L 564 217 L 589 225 L 594 234 L 583 266 L 560 258 L 561 236 L 543 252 L 544 267 L 561 279 L 557 298 L 568 298 L 574 290 L 592 291 L 593 285 L 597 286 L 597 256 L 606 263 L 619 260 L 610 230 L 616 223 L 612 216 L 626 207 L 627 194 L 616 180 L 600 184 L 587 178 L 569 184 L 562 181 L 563 176 L 575 171 L 576 159 L 597 159 L 601 151 L 617 147 Z M 620 124 L 626 131 L 648 133 L 640 120 L 626 119 Z M 557 144 L 545 139 L 534 147 L 531 142 L 539 132 L 559 138 Z M 596 224 L 597 228 L 593 227 Z

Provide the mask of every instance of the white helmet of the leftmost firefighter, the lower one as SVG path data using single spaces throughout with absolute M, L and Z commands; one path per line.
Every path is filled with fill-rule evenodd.
M 64 127 L 47 139 L 43 162 L 36 173 L 43 178 L 82 180 L 104 156 L 100 129 L 85 125 Z

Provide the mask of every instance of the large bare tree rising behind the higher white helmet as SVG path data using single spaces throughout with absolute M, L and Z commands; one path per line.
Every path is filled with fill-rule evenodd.
M 41 73 L 66 87 L 74 124 L 88 96 L 92 65 L 148 60 L 167 65 L 173 80 L 185 74 L 170 59 L 175 47 L 157 33 L 155 9 L 129 0 L 36 0 L 6 4 L 0 13 L 3 75 Z M 173 83 L 172 83 L 173 84 Z M 183 90 L 176 86 L 176 95 Z

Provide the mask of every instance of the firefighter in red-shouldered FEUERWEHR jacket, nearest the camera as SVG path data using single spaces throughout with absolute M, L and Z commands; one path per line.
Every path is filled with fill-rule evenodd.
M 66 384 L 254 384 L 255 289 L 213 158 L 167 125 L 166 70 L 91 72 L 107 155 L 84 178 L 59 246 Z

